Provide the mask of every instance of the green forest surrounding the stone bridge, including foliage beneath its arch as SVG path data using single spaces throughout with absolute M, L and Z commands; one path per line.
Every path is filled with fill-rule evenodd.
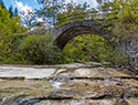
M 138 39 L 138 0 L 96 0 L 93 8 L 65 0 L 38 0 L 42 8 L 25 15 L 18 9 L 6 8 L 0 0 L 0 63 L 1 64 L 61 64 L 73 62 L 112 62 L 116 66 L 130 63 L 128 48 L 131 39 Z M 24 18 L 21 18 L 24 15 Z M 36 21 L 42 18 L 43 22 Z M 49 23 L 45 27 L 45 19 Z M 98 21 L 103 19 L 103 21 Z M 82 34 L 71 40 L 63 50 L 52 42 L 45 31 L 67 22 L 95 20 L 113 35 L 110 42 L 97 34 Z M 30 32 L 36 34 L 30 34 Z M 125 46 L 119 50 L 120 42 Z M 115 43 L 114 45 L 110 43 Z

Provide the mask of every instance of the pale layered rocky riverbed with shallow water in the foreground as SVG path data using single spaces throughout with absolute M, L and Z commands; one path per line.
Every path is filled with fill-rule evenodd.
M 108 64 L 0 65 L 0 105 L 138 105 L 138 75 Z

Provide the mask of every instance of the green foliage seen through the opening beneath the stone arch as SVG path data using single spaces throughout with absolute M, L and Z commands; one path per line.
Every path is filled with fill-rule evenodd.
M 76 36 L 68 42 L 63 50 L 63 54 L 71 62 L 105 62 L 108 61 L 112 50 L 105 39 L 94 34 L 86 34 Z

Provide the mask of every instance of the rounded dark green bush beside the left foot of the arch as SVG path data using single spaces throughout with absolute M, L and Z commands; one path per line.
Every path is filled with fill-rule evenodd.
M 57 63 L 60 50 L 52 44 L 50 34 L 29 35 L 20 45 L 23 57 L 33 64 Z

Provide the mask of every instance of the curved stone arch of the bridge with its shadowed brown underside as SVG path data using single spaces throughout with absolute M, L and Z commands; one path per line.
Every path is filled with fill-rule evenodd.
M 106 40 L 110 40 L 109 34 L 103 31 L 98 22 L 89 20 L 70 22 L 56 28 L 54 43 L 63 50 L 70 40 L 82 34 L 97 34 Z

